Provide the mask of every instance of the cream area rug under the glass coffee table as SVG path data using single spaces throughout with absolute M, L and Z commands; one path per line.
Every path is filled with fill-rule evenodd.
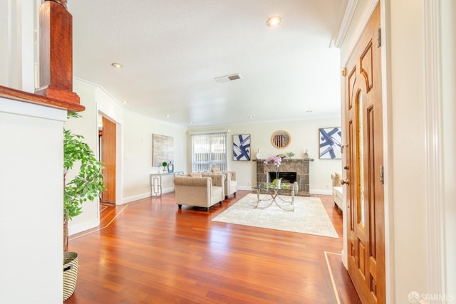
M 281 197 L 291 201 L 291 196 Z M 260 199 L 270 198 L 269 194 L 260 194 Z M 277 201 L 281 203 L 280 199 Z M 256 209 L 256 204 L 257 194 L 247 194 L 212 221 L 338 238 L 321 200 L 316 197 L 295 196 L 294 212 L 284 211 L 274 203 L 267 208 Z M 263 201 L 259 206 L 268 204 Z

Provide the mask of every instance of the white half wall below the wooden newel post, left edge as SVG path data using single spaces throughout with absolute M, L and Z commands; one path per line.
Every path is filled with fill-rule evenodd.
M 65 120 L 0 98 L 0 303 L 62 303 Z

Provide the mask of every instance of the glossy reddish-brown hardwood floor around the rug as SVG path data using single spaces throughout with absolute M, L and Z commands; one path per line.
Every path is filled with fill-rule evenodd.
M 341 238 L 211 221 L 249 193 L 209 212 L 178 210 L 174 194 L 102 205 L 100 228 L 70 238 L 79 273 L 65 303 L 360 303 Z M 317 197 L 342 236 L 332 196 Z

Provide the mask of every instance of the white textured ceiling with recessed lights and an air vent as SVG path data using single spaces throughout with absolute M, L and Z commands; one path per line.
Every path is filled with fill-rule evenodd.
M 73 75 L 100 85 L 123 108 L 178 125 L 336 117 L 339 51 L 329 46 L 345 6 L 341 0 L 71 0 Z M 268 28 L 274 15 L 281 26 Z M 214 80 L 234 73 L 242 79 Z

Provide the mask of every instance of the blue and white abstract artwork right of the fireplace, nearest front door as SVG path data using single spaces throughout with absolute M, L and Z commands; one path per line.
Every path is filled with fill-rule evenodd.
M 323 127 L 320 129 L 320 159 L 341 159 L 341 147 L 341 127 Z

